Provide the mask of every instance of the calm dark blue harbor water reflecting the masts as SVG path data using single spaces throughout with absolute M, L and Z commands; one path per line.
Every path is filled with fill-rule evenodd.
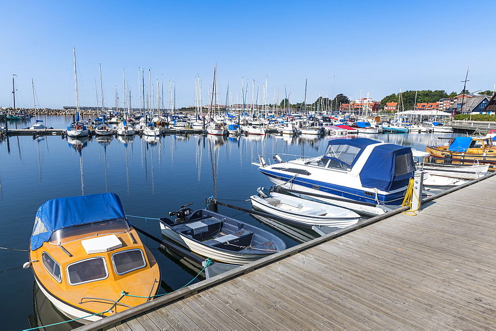
M 71 117 L 64 116 L 38 119 L 44 119 L 45 125 L 54 128 L 65 128 L 71 121 Z M 29 122 L 9 122 L 9 128 L 16 126 L 25 128 Z M 373 138 L 418 150 L 425 150 L 426 145 L 437 140 L 427 133 L 382 134 Z M 193 209 L 204 208 L 205 199 L 212 195 L 249 208 L 245 200 L 256 193 L 257 187 L 271 185 L 251 165 L 255 161 L 252 153 L 317 156 L 323 154 L 329 139 L 335 137 L 171 135 L 129 139 L 77 140 L 60 136 L 3 139 L 0 141 L 0 247 L 28 249 L 36 211 L 53 198 L 114 192 L 121 198 L 127 215 L 150 218 L 167 216 L 186 203 L 193 203 Z M 224 207 L 219 212 L 274 232 L 288 246 L 297 244 L 247 214 Z M 161 236 L 157 221 L 129 220 Z M 201 270 L 200 266 L 159 250 L 160 245 L 153 240 L 146 237 L 142 240 L 159 261 L 163 293 L 184 286 Z M 34 286 L 32 272 L 18 268 L 28 261 L 27 252 L 0 249 L 0 261 L 0 292 L 4 298 L 1 330 L 27 329 L 63 320 Z M 69 330 L 77 326 L 78 323 L 71 323 L 49 329 Z

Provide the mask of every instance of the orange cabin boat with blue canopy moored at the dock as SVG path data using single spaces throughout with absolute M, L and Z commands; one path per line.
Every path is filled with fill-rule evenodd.
M 160 285 L 157 261 L 114 193 L 45 202 L 36 214 L 29 257 L 26 267 L 32 266 L 47 298 L 83 323 L 144 303 Z

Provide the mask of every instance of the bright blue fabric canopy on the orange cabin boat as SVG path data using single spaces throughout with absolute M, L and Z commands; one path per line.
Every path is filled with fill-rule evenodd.
M 126 219 L 121 200 L 115 193 L 58 198 L 38 209 L 31 234 L 31 250 L 40 248 L 52 233 L 74 225 Z

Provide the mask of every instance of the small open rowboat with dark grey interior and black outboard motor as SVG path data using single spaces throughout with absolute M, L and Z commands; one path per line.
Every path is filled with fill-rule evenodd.
M 163 235 L 223 263 L 243 265 L 286 249 L 286 243 L 275 234 L 205 209 L 192 212 L 181 208 L 169 215 L 179 219 L 160 218 Z

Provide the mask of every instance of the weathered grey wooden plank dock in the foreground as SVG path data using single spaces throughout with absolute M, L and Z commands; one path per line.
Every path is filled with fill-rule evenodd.
M 77 330 L 494 329 L 495 175 Z

